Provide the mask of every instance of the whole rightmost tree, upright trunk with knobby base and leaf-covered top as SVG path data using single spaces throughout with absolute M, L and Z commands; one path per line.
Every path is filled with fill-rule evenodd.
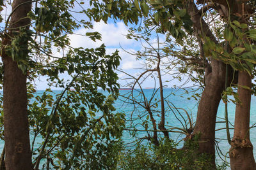
M 234 29 L 234 34 L 239 40 L 232 52 L 242 57 L 239 61 L 242 68 L 239 69 L 237 95 L 239 101 L 236 104 L 236 117 L 234 126 L 234 137 L 230 143 L 230 165 L 232 169 L 255 169 L 255 159 L 253 157 L 253 146 L 250 142 L 250 104 L 252 96 L 252 71 L 255 63 L 256 51 L 253 37 L 250 30 L 252 23 L 250 18 L 253 13 L 250 9 L 251 1 L 236 1 L 233 4 L 232 13 L 238 15 L 230 27 Z M 255 4 L 255 2 L 253 2 Z M 242 7 L 241 7 L 242 6 Z M 234 16 L 232 16 L 234 17 Z M 236 26 L 237 27 L 236 27 Z M 248 34 L 248 36 L 246 36 Z M 252 59 L 253 60 L 250 60 Z M 249 59 L 249 60 L 248 60 Z M 250 63 L 251 62 L 251 63 Z M 236 62 L 237 63 L 237 62 Z

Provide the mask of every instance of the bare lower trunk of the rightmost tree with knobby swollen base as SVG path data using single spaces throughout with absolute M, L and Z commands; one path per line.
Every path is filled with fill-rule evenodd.
M 230 148 L 231 169 L 256 169 L 253 146 L 250 141 L 250 103 L 252 77 L 245 71 L 239 71 L 237 94 L 241 103 L 236 105 L 235 130 Z

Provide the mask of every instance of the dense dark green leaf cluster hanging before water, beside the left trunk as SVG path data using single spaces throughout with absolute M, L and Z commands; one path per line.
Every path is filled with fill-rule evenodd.
M 51 134 L 60 136 L 59 138 L 51 138 L 47 144 L 49 149 L 56 148 L 58 150 L 58 152 L 51 154 L 58 158 L 60 166 L 106 167 L 107 163 L 104 160 L 100 160 L 101 162 L 97 162 L 97 164 L 95 164 L 95 160 L 105 157 L 108 152 L 102 150 L 99 156 L 95 156 L 93 154 L 100 152 L 100 150 L 95 151 L 92 148 L 97 148 L 98 145 L 102 146 L 102 141 L 106 143 L 106 146 L 109 145 L 109 142 L 115 143 L 118 141 L 117 138 L 122 135 L 124 115 L 121 113 L 113 114 L 115 111 L 113 102 L 118 92 L 117 74 L 114 71 L 119 65 L 119 59 L 118 52 L 106 55 L 104 45 L 95 49 L 70 48 L 66 57 L 52 62 L 54 70 L 51 68 L 40 70 L 42 74 L 47 74 L 50 77 L 49 81 L 56 87 L 67 89 L 63 96 L 56 94 L 55 100 L 60 101 L 59 103 L 52 102 L 55 97 L 44 92 L 42 97 L 36 98 L 39 102 L 31 105 L 34 112 L 42 108 L 52 108 L 52 110 L 56 108 L 56 113 L 51 112 L 51 116 L 48 116 L 49 110 L 47 109 L 42 113 L 35 112 L 43 115 L 40 116 L 38 122 L 33 122 L 33 126 L 39 128 L 35 130 L 38 132 L 41 125 L 44 126 L 42 128 L 47 125 L 51 129 L 47 128 L 45 131 L 49 129 Z M 72 81 L 60 80 L 58 71 L 61 69 L 70 74 Z M 56 70 L 57 74 L 55 74 Z M 100 92 L 99 87 L 112 92 L 112 95 L 106 97 Z M 39 103 L 44 104 L 38 106 Z M 102 115 L 100 119 L 99 115 Z M 39 124 L 39 122 L 44 122 L 44 124 Z M 41 133 L 43 138 L 46 136 L 45 131 Z M 85 150 L 86 154 L 84 153 Z M 67 159 L 70 155 L 73 159 Z M 76 164 L 75 160 L 81 155 L 83 155 L 83 162 Z

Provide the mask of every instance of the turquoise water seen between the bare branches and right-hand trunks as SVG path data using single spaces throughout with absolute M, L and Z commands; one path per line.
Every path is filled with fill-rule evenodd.
M 197 111 L 197 106 L 198 106 L 198 97 L 196 97 L 196 93 L 200 93 L 200 91 L 193 92 L 193 89 L 187 89 L 187 90 L 191 91 L 191 92 L 189 92 L 189 94 L 187 94 L 186 91 L 182 90 L 182 89 L 180 89 L 180 90 L 164 89 L 164 96 L 166 97 L 166 101 L 170 101 L 171 103 L 173 103 L 173 105 L 176 108 L 183 108 L 184 110 L 186 110 L 189 114 L 189 117 L 191 117 L 192 122 L 195 124 L 196 111 Z M 149 98 L 152 96 L 153 90 L 143 90 L 143 92 L 144 92 L 145 96 L 147 97 L 147 99 L 149 100 Z M 129 93 L 129 90 L 120 90 L 120 94 L 127 94 L 127 93 Z M 142 100 L 141 97 L 138 97 L 138 94 L 139 94 L 139 92 L 134 92 L 134 96 L 137 96 L 137 99 Z M 195 97 L 193 97 L 193 96 L 195 96 Z M 157 94 L 156 98 L 159 99 L 159 94 Z M 251 126 L 256 123 L 256 105 L 255 105 L 255 103 L 256 103 L 256 97 L 252 96 L 251 118 L 250 118 Z M 179 109 L 180 114 L 182 115 L 182 117 L 184 117 L 184 119 L 179 114 L 177 114 L 177 111 L 174 111 L 176 113 L 176 117 L 175 117 L 175 114 L 173 113 L 173 111 L 170 110 L 170 108 L 168 108 L 168 104 L 167 103 L 164 103 L 164 104 L 165 104 L 165 108 L 166 108 L 166 122 L 169 123 L 168 125 L 182 128 L 182 124 L 184 124 L 184 120 L 186 120 L 188 122 L 188 119 L 187 119 L 188 117 L 186 117 L 185 111 Z M 158 108 L 155 108 L 156 114 L 157 114 L 157 111 L 161 110 L 160 103 L 158 103 L 158 105 L 159 105 Z M 140 106 L 138 106 L 138 104 L 135 105 L 135 107 L 138 107 L 138 111 L 143 111 L 143 109 Z M 116 108 L 118 108 L 118 110 L 120 110 L 120 111 L 124 111 L 125 115 L 127 116 L 127 119 L 131 119 L 131 113 L 134 110 L 134 106 L 132 106 L 132 104 L 124 104 L 123 101 L 117 101 Z M 234 103 L 232 103 L 232 102 L 228 103 L 228 120 L 230 121 L 230 123 L 232 125 L 234 125 L 235 109 L 236 109 L 236 105 Z M 139 114 L 138 111 L 137 112 L 135 111 L 135 113 L 133 113 L 132 118 L 138 117 L 138 114 Z M 225 118 L 225 104 L 223 103 L 223 101 L 220 102 L 217 117 L 218 117 L 216 120 L 217 122 L 225 121 L 223 119 L 223 118 Z M 156 120 L 157 120 L 157 124 L 158 124 L 159 118 L 156 117 Z M 138 122 L 140 122 L 140 120 L 135 120 L 134 124 L 136 124 Z M 127 122 L 127 126 L 129 126 L 130 124 L 131 123 Z M 134 125 L 134 124 L 132 124 L 132 125 Z M 232 125 L 230 125 L 230 128 L 232 128 Z M 140 127 L 140 126 L 138 126 L 138 127 Z M 217 123 L 216 124 L 216 130 L 224 128 L 224 127 L 225 127 L 225 123 Z M 168 128 L 168 127 L 166 127 L 166 128 Z M 250 139 L 254 146 L 256 146 L 255 132 L 256 132 L 255 128 L 252 128 L 250 130 Z M 233 136 L 233 133 L 234 133 L 234 130 L 231 129 L 230 130 L 231 138 Z M 145 135 L 146 135 L 145 132 L 140 132 L 138 134 L 138 136 L 140 136 L 140 137 L 143 137 Z M 171 132 L 170 137 L 176 141 L 180 141 L 185 136 L 184 135 L 180 136 L 179 133 Z M 131 135 L 129 135 L 129 132 L 127 132 L 127 131 L 124 132 L 124 141 L 126 141 L 127 143 L 131 142 Z M 219 146 L 222 154 L 228 156 L 227 153 L 230 148 L 230 145 L 228 144 L 228 141 L 227 141 L 227 132 L 225 129 L 216 131 L 216 141 L 218 143 L 218 146 Z M 182 146 L 182 142 L 180 143 L 179 146 Z M 253 150 L 253 153 L 255 155 L 256 150 Z M 219 156 L 219 154 L 220 154 L 220 156 Z M 225 159 L 225 157 L 223 157 L 220 152 L 219 153 L 216 152 L 216 159 L 217 159 L 217 162 L 220 164 L 221 164 L 221 162 L 223 162 L 223 160 L 221 160 L 221 159 L 229 161 L 229 159 L 228 158 Z

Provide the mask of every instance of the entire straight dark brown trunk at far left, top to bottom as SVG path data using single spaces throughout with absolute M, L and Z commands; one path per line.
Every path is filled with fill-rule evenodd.
M 16 8 L 16 10 L 14 10 Z M 27 17 L 31 10 L 31 1 L 14 0 L 10 20 L 11 31 L 3 41 L 10 45 L 13 31 L 30 24 Z M 27 27 L 28 29 L 28 27 Z M 29 126 L 27 111 L 26 74 L 19 69 L 11 56 L 2 53 L 4 64 L 3 108 L 4 108 L 4 140 L 6 169 L 32 169 L 31 150 L 29 144 Z

